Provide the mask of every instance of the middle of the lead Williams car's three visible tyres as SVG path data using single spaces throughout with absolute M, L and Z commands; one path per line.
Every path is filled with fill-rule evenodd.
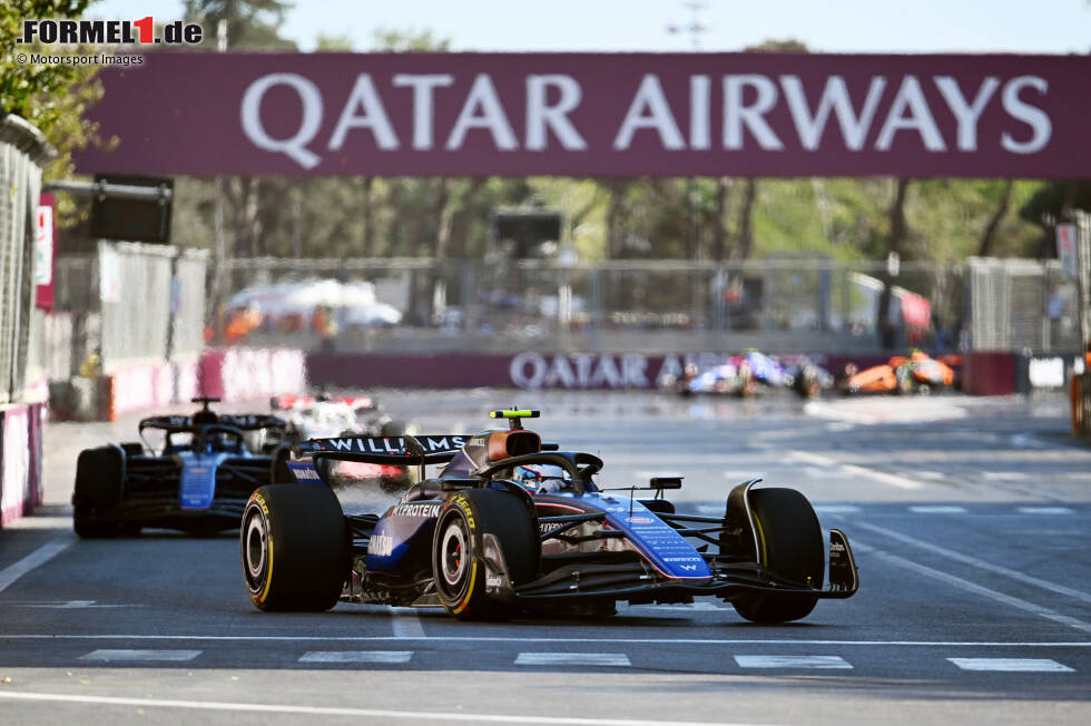
M 527 501 L 494 489 L 466 489 L 448 501 L 435 523 L 432 572 L 448 612 L 460 620 L 498 620 L 514 608 L 485 590 L 484 536 L 497 539 L 512 585 L 538 576 L 541 542 Z

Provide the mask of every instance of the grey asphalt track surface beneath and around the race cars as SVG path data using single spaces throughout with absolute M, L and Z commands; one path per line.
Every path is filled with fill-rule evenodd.
M 0 531 L 0 723 L 1091 723 L 1091 449 L 1060 396 L 383 400 L 423 433 L 541 408 L 546 440 L 606 460 L 600 485 L 684 474 L 684 511 L 721 512 L 751 475 L 795 485 L 849 536 L 861 591 L 777 627 L 712 598 L 505 624 L 263 614 L 234 533 L 76 539 L 76 454 L 135 418 L 51 424 L 47 506 Z

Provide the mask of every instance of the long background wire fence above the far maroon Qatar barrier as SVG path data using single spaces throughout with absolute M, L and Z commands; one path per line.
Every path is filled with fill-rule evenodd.
M 245 317 L 247 343 L 343 351 L 951 350 L 966 320 L 961 265 L 903 263 L 895 276 L 883 263 L 815 258 L 725 265 L 256 258 L 226 267 L 220 327 L 237 330 L 233 323 Z M 318 295 L 336 291 L 328 281 L 372 285 L 401 322 L 358 322 L 367 316 L 353 305 Z M 877 312 L 887 283 L 891 334 L 883 339 Z M 924 307 L 911 311 L 914 301 Z

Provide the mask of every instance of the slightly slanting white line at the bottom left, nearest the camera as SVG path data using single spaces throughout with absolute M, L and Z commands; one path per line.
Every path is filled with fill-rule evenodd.
M 195 710 L 233 710 L 264 714 L 306 714 L 313 716 L 365 716 L 372 718 L 409 718 L 420 722 L 460 722 L 471 724 L 549 724 L 556 726 L 714 726 L 709 722 L 637 720 L 632 718 L 566 718 L 563 716 L 524 716 L 503 714 L 452 714 L 429 710 L 392 710 L 383 708 L 337 708 L 333 706 L 292 706 L 278 704 L 239 704 L 217 700 L 179 700 L 165 698 L 121 698 L 117 696 L 70 696 L 0 691 L 0 698 L 142 708 L 189 708 Z M 744 726 L 720 722 L 716 726 Z

